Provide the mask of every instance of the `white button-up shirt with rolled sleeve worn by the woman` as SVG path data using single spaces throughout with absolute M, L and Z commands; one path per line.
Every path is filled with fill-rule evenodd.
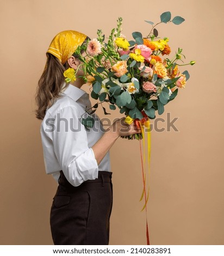
M 89 94 L 69 84 L 47 109 L 40 129 L 46 173 L 58 181 L 63 170 L 73 186 L 98 178 L 100 170 L 111 171 L 109 151 L 98 165 L 91 148 L 105 131 L 98 116 L 91 115 L 95 123 L 89 130 L 80 123 L 86 107 L 91 107 Z

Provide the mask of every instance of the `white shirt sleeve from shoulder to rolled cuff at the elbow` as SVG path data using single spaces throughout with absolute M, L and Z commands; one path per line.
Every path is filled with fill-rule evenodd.
M 76 106 L 67 106 L 55 114 L 52 136 L 54 153 L 66 179 L 79 186 L 85 180 L 98 178 L 98 164 Z

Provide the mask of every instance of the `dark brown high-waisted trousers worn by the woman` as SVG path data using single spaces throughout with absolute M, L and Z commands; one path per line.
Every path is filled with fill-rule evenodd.
M 60 171 L 50 224 L 54 245 L 108 245 L 113 205 L 111 172 L 72 186 Z

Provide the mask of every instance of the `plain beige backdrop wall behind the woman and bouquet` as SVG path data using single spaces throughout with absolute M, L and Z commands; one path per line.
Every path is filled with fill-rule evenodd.
M 74 29 L 94 38 L 97 28 L 108 35 L 122 16 L 123 33 L 131 39 L 133 31 L 149 32 L 144 20 L 159 21 L 167 10 L 186 21 L 160 25 L 160 36 L 170 38 L 173 52 L 182 47 L 187 61 L 197 64 L 187 67 L 186 88 L 162 115 L 179 117 L 179 132 L 152 132 L 150 240 L 224 245 L 223 1 L 1 0 L 2 245 L 52 244 L 49 211 L 57 184 L 45 174 L 34 93 L 53 36 Z M 102 111 L 98 115 L 103 117 Z M 118 139 L 111 149 L 110 245 L 146 243 L 140 167 L 139 143 Z

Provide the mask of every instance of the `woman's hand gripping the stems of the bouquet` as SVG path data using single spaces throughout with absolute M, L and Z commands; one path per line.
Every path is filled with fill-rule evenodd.
M 140 133 L 141 129 L 138 129 L 134 122 L 132 124 L 125 123 L 125 117 L 123 117 L 114 121 L 114 123 L 111 125 L 110 131 L 116 133 L 116 135 L 120 137 Z

